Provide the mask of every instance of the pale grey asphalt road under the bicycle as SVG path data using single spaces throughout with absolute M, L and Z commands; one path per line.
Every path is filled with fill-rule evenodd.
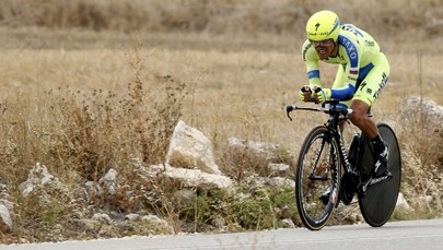
M 1 246 L 0 250 L 144 250 L 144 249 L 443 249 L 443 218 L 238 234 L 130 237 L 59 243 Z

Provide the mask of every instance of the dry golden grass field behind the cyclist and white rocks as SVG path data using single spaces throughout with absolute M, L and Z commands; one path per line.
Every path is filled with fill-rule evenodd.
M 175 189 L 175 183 L 136 181 L 130 158 L 162 162 L 177 119 L 211 138 L 225 169 L 232 169 L 228 162 L 234 156 L 226 153 L 230 136 L 277 143 L 295 157 L 307 131 L 325 117 L 300 112 L 291 122 L 283 112 L 285 104 L 298 104 L 296 92 L 306 82 L 300 55 L 303 28 L 294 27 L 303 27 L 313 10 L 334 5 L 346 22 L 374 33 L 390 61 L 390 81 L 374 115 L 400 132 L 404 186 L 409 189 L 417 180 L 421 182 L 407 193 L 440 199 L 432 186 L 440 176 L 427 180 L 425 170 L 434 174 L 441 163 L 417 155 L 432 154 L 418 147 L 434 144 L 401 132 L 400 127 L 407 124 L 397 118 L 400 100 L 411 95 L 443 105 L 443 73 L 438 70 L 443 57 L 438 20 L 442 8 L 439 1 L 420 1 L 419 5 L 408 1 L 415 8 L 400 13 L 396 7 L 401 2 L 4 1 L 0 7 L 0 180 L 14 190 L 28 168 L 40 162 L 74 187 L 77 178 L 96 180 L 116 167 L 125 178 L 120 200 L 98 200 L 95 207 L 124 212 L 149 207 L 163 215 L 187 215 L 179 202 L 159 202 L 174 191 L 160 190 L 159 184 Z M 355 4 L 371 7 L 371 13 L 354 12 Z M 323 67 L 323 78 L 331 81 L 336 68 Z M 247 164 L 242 167 L 261 168 L 260 158 L 247 155 L 244 159 Z M 132 200 L 124 195 L 144 186 L 154 190 L 158 203 L 147 204 L 141 193 Z M 210 206 L 208 199 L 196 202 Z M 431 205 L 417 207 L 423 213 L 442 212 Z M 26 206 L 16 213 L 50 223 L 65 211 L 56 209 L 45 216 Z M 15 237 L 30 226 L 20 219 L 22 230 Z M 171 221 L 178 223 L 174 216 Z

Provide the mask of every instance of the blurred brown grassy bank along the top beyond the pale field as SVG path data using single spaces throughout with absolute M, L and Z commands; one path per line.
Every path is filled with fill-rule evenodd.
M 10 27 L 121 32 L 295 34 L 308 16 L 336 11 L 343 23 L 382 39 L 442 39 L 441 0 L 2 0 L 0 24 Z

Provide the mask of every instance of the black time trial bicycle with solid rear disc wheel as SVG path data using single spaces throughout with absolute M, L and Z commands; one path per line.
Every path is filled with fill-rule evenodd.
M 388 170 L 390 175 L 373 178 L 373 147 L 369 139 L 357 133 L 349 151 L 340 131 L 340 122 L 349 123 L 352 109 L 343 108 L 339 100 L 327 100 L 320 108 L 287 106 L 290 112 L 308 110 L 325 112 L 329 118 L 315 127 L 301 147 L 295 171 L 295 200 L 304 226 L 322 229 L 329 221 L 340 201 L 351 204 L 357 194 L 364 221 L 373 226 L 383 226 L 392 216 L 397 203 L 401 179 L 401 156 L 394 130 L 386 123 L 377 128 L 388 145 Z

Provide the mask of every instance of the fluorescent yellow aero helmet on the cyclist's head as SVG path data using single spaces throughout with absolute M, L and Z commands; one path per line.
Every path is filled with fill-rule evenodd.
M 306 23 L 306 36 L 310 40 L 326 40 L 338 38 L 340 20 L 331 11 L 319 11 L 313 14 Z

